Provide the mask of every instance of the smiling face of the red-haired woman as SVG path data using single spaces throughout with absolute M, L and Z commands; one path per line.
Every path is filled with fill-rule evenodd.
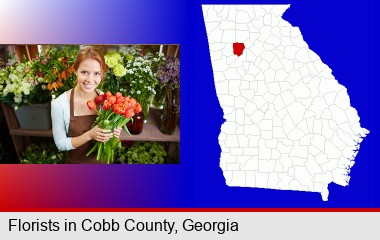
M 100 63 L 95 59 L 86 59 L 79 65 L 76 75 L 79 89 L 86 93 L 93 92 L 102 80 Z

